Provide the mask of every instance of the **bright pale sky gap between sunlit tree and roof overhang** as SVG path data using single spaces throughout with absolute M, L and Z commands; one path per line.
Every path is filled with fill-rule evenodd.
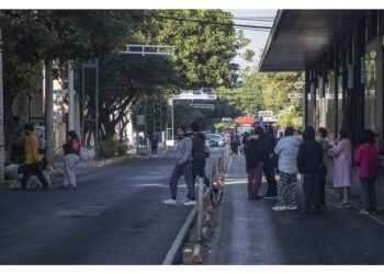
M 278 10 L 224 10 L 229 11 L 233 13 L 234 18 L 264 18 L 264 16 L 272 16 L 274 18 L 276 15 Z M 266 25 L 266 26 L 272 26 L 273 22 L 260 22 L 260 21 L 248 21 L 248 20 L 234 20 L 235 24 L 242 24 L 242 25 Z M 239 30 L 239 28 L 236 28 Z M 245 36 L 249 38 L 251 42 L 248 45 L 247 48 L 250 48 L 255 50 L 255 59 L 252 62 L 245 61 L 240 59 L 239 57 L 235 58 L 235 61 L 240 65 L 241 68 L 245 68 L 247 66 L 253 67 L 258 66 L 260 61 L 260 50 L 262 50 L 266 46 L 269 32 L 258 32 L 258 31 L 249 31 L 244 30 Z

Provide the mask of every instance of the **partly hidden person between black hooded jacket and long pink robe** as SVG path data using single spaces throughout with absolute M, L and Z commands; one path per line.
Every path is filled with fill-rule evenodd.
M 323 148 L 323 152 L 324 152 L 324 159 L 323 159 L 323 164 L 319 171 L 319 185 L 320 185 L 320 190 L 319 190 L 319 196 L 320 196 L 320 205 L 326 205 L 326 181 L 327 181 L 327 155 L 328 155 L 328 150 L 329 150 L 329 142 L 326 139 L 327 138 L 327 129 L 325 129 L 324 127 L 319 127 L 317 129 L 317 138 L 316 140 L 320 144 L 321 148 Z

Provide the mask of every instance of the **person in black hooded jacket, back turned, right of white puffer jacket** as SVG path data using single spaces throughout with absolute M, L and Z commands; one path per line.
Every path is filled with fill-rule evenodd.
M 315 129 L 308 126 L 303 133 L 303 144 L 300 146 L 296 157 L 298 171 L 303 174 L 305 214 L 312 213 L 312 204 L 315 207 L 315 214 L 321 214 L 319 171 L 323 164 L 323 148 L 315 140 Z

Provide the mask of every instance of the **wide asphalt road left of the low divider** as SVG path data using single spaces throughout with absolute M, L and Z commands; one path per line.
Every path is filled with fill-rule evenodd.
M 0 264 L 161 264 L 192 209 L 162 204 L 173 163 L 131 159 L 89 170 L 78 190 L 0 190 Z

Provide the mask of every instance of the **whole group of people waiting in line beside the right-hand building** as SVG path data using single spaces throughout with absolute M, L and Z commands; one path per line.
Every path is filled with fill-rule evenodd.
M 349 207 L 348 192 L 352 182 L 352 162 L 359 167 L 364 209 L 360 214 L 376 210 L 375 178 L 377 175 L 379 150 L 375 134 L 364 129 L 359 146 L 352 153 L 352 144 L 347 128 L 341 128 L 339 138 L 329 146 L 327 130 L 315 132 L 308 126 L 302 133 L 286 127 L 284 134 L 275 134 L 271 126 L 257 127 L 244 134 L 242 147 L 248 174 L 248 198 L 275 198 L 273 210 L 297 209 L 297 175 L 301 174 L 304 193 L 304 214 L 320 215 L 326 205 L 327 157 L 334 157 L 334 187 L 341 192 L 338 207 Z M 275 180 L 279 173 L 279 184 Z M 268 183 L 264 195 L 260 195 L 262 174 Z

